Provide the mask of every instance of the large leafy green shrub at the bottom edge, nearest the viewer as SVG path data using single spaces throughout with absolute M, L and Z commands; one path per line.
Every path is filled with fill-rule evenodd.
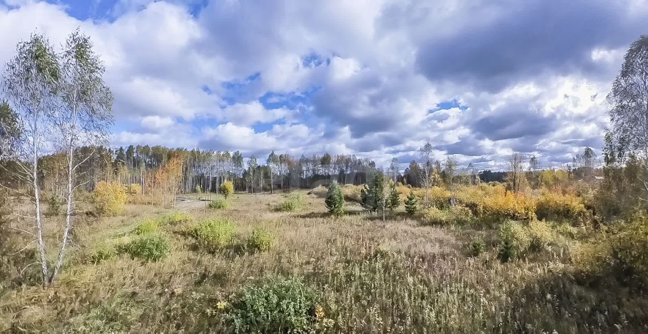
M 249 285 L 227 311 L 235 333 L 310 333 L 316 322 L 316 294 L 297 278 L 273 278 Z

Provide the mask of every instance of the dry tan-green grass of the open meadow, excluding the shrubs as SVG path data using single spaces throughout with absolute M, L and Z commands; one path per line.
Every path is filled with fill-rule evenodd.
M 233 195 L 231 206 L 222 210 L 207 208 L 207 201 L 178 201 L 178 210 L 189 214 L 191 222 L 160 224 L 156 235 L 170 240 L 170 252 L 157 262 L 127 254 L 97 261 L 97 254 L 106 245 L 137 238 L 133 230 L 143 221 L 165 217 L 170 210 L 128 205 L 118 217 L 80 216 L 73 250 L 55 285 L 38 285 L 37 266 L 28 267 L 21 280 L 16 279 L 18 273 L 1 277 L 0 332 L 235 331 L 235 320 L 245 317 L 232 316 L 241 291 L 277 276 L 295 278 L 314 294 L 315 308 L 308 310 L 316 322 L 309 329 L 313 332 L 648 329 L 648 302 L 636 289 L 579 282 L 572 271 L 577 236 L 557 233 L 550 246 L 502 263 L 496 230 L 487 225 L 425 226 L 404 216 L 402 206 L 382 221 L 382 215 L 364 212 L 351 202 L 345 216 L 334 218 L 326 214 L 321 197 L 301 195 L 303 208 L 294 212 L 273 209 L 284 200 L 281 194 Z M 230 245 L 207 251 L 187 234 L 192 224 L 209 218 L 235 223 Z M 60 224 L 62 217 L 48 221 Z M 255 227 L 270 232 L 274 242 L 269 250 L 246 247 Z M 477 237 L 484 240 L 485 252 L 470 256 L 471 241 Z M 12 242 L 19 243 L 16 238 Z M 29 255 L 11 261 L 29 264 Z

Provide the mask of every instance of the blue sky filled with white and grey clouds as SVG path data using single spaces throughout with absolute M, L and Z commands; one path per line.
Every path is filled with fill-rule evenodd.
M 0 0 L 0 63 L 80 27 L 115 95 L 111 144 L 356 154 L 425 142 L 478 169 L 600 153 L 643 0 Z M 0 72 L 4 69 L 0 70 Z

